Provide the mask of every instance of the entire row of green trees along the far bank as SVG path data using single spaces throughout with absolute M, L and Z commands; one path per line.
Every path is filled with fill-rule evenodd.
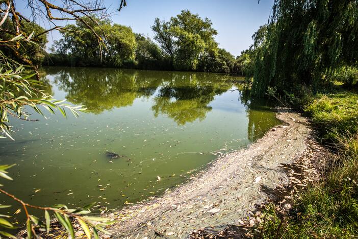
M 108 19 L 91 18 L 96 22 L 91 22 L 91 27 L 104 44 L 98 43 L 84 23 L 76 21 L 60 30 L 62 38 L 54 42 L 42 64 L 242 74 L 241 61 L 215 41 L 217 31 L 211 20 L 189 10 L 169 21 L 156 18 L 151 26 L 154 39 Z

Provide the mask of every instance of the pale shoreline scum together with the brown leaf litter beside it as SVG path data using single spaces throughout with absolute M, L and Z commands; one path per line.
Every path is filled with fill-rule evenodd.
M 220 231 L 227 225 L 254 224 L 252 211 L 267 201 L 291 207 L 288 202 L 295 190 L 319 179 L 330 155 L 314 139 L 307 118 L 287 108 L 277 108 L 276 116 L 282 125 L 245 149 L 218 157 L 188 183 L 105 214 L 118 222 L 107 228 L 111 236 L 101 238 L 203 238 L 208 228 Z M 40 236 L 63 238 L 66 232 L 50 235 Z M 78 231 L 76 236 L 85 234 Z

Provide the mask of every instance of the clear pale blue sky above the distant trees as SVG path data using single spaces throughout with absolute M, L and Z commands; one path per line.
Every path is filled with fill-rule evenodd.
M 17 8 L 26 1 L 17 1 Z M 106 7 L 117 9 L 120 0 L 105 0 Z M 115 23 L 130 26 L 134 32 L 152 36 L 150 26 L 154 19 L 169 20 L 183 9 L 208 17 L 218 31 L 216 36 L 220 47 L 240 55 L 252 43 L 252 34 L 267 23 L 273 0 L 126 0 L 127 6 L 121 12 L 115 11 L 112 20 Z M 55 1 L 56 3 L 56 1 Z M 24 6 L 24 5 L 23 5 Z M 23 8 L 22 8 L 23 10 Z M 26 10 L 25 10 L 26 11 Z M 39 21 L 40 25 L 44 24 Z M 48 28 L 49 26 L 44 26 Z M 60 38 L 59 33 L 48 36 L 49 45 Z

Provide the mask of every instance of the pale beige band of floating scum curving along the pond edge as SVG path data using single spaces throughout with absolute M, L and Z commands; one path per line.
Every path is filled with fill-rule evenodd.
M 284 123 L 246 149 L 219 157 L 190 182 L 162 197 L 113 212 L 112 237 L 188 237 L 194 229 L 239 224 L 255 204 L 267 200 L 261 188 L 287 184 L 283 164 L 304 152 L 311 129 L 305 117 L 280 108 Z

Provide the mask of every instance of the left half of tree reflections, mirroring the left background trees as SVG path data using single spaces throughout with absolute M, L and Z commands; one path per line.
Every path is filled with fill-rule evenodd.
M 65 68 L 56 70 L 55 83 L 67 93 L 69 102 L 86 105 L 88 111 L 99 114 L 132 105 L 136 98 L 150 97 L 161 79 L 142 77 L 132 70 Z

